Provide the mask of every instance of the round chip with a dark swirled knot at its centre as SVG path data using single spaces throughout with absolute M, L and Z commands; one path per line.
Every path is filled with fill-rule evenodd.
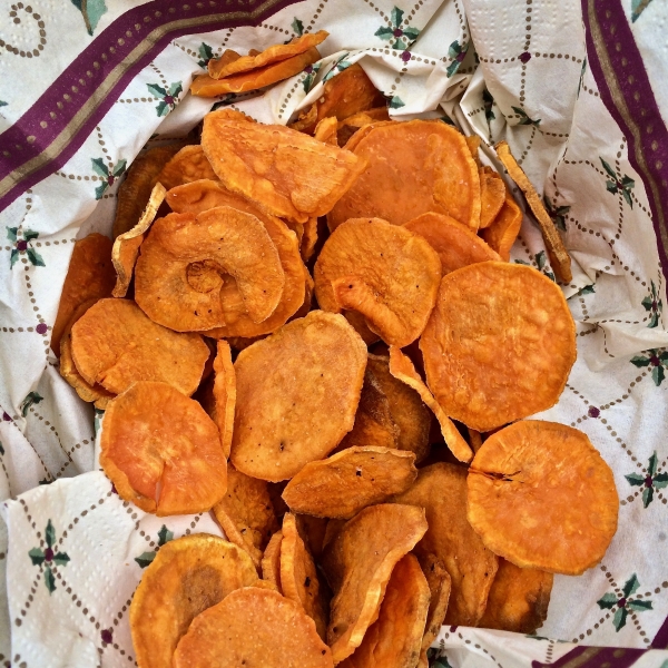
M 229 206 L 197 216 L 169 214 L 154 223 L 141 244 L 135 299 L 153 321 L 171 330 L 220 327 L 226 324 L 220 291 L 225 274 L 235 279 L 253 322 L 274 313 L 285 273 L 272 237 L 256 216 Z M 238 305 L 230 310 L 238 313 Z

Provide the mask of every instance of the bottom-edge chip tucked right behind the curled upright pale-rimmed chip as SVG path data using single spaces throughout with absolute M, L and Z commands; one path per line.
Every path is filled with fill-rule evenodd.
M 413 554 L 394 567 L 379 618 L 369 627 L 362 645 L 342 668 L 415 668 L 429 609 L 430 591 Z

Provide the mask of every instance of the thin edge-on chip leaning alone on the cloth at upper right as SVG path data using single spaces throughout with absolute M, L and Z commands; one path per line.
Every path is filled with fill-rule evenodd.
M 570 256 L 559 236 L 559 230 L 557 229 L 554 222 L 546 210 L 536 188 L 510 153 L 508 144 L 505 141 L 500 141 L 497 144 L 495 149 L 499 159 L 503 163 L 505 169 L 508 169 L 510 178 L 512 178 L 522 193 L 524 193 L 524 197 L 540 225 L 550 257 L 550 264 L 552 265 L 557 277 L 563 283 L 570 283 L 572 281 Z

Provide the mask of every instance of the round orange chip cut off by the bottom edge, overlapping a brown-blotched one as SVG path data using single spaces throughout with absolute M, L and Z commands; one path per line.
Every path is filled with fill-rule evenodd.
M 334 666 L 330 648 L 301 606 L 277 591 L 257 587 L 233 591 L 196 617 L 170 665 L 174 668 Z

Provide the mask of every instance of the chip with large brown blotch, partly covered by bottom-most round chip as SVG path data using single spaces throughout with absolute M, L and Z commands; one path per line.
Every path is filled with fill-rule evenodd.
M 176 645 L 195 617 L 257 581 L 248 554 L 222 538 L 197 533 L 165 543 L 130 603 L 139 668 L 171 666 Z

